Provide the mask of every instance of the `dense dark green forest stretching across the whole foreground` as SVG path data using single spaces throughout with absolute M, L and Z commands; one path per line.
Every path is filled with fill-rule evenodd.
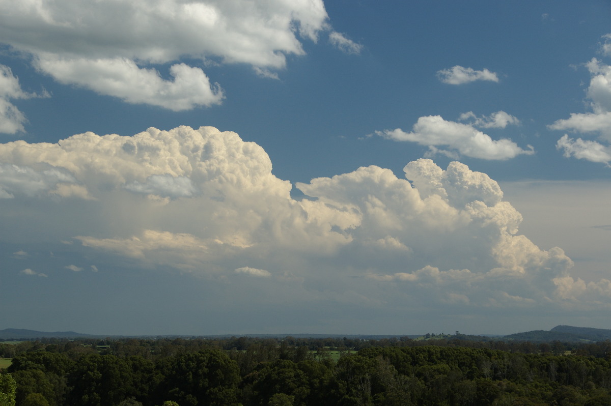
M 0 406 L 611 404 L 610 341 L 40 339 L 0 357 Z

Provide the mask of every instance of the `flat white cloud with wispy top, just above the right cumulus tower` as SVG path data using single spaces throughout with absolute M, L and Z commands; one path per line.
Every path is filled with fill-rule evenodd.
M 477 118 L 474 114 L 469 113 L 463 116 L 461 116 L 462 120 L 475 118 L 474 125 L 485 128 L 514 123 L 515 119 L 505 112 L 497 112 L 491 117 L 483 118 Z M 519 154 L 534 153 L 530 145 L 528 149 L 523 150 L 509 139 L 493 140 L 488 134 L 474 128 L 474 125 L 447 121 L 440 115 L 429 115 L 420 117 L 411 132 L 397 128 L 376 131 L 376 134 L 390 140 L 415 142 L 429 147 L 431 154 L 444 153 L 453 158 L 458 158 L 461 154 L 472 158 L 502 160 L 515 158 Z M 438 146 L 449 147 L 449 149 L 440 150 Z

